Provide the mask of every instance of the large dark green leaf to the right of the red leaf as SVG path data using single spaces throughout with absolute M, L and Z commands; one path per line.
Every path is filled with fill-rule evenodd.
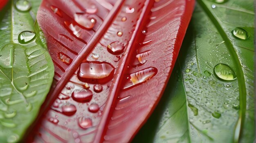
M 253 5 L 253 0 L 198 0 L 175 65 L 177 73 L 134 142 L 254 141 Z M 233 35 L 234 29 L 247 35 Z M 220 63 L 228 65 L 236 79 L 214 74 Z M 228 77 L 225 70 L 222 76 Z

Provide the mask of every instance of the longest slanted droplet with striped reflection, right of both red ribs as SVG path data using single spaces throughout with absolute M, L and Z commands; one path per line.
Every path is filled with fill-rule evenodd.
M 139 72 L 130 74 L 130 78 L 126 81 L 124 89 L 131 88 L 135 85 L 139 85 L 148 81 L 150 78 L 157 74 L 157 69 L 154 67 L 149 67 L 147 69 L 141 70 Z

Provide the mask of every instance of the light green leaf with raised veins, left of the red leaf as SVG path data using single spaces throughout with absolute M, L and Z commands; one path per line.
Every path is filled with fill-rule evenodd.
M 40 1 L 19 0 L 21 5 L 17 6 L 16 2 L 11 0 L 0 12 L 1 143 L 22 139 L 38 115 L 54 76 L 43 32 L 34 22 Z

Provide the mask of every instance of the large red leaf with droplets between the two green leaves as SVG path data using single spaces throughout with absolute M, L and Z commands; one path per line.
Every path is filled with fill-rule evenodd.
M 166 87 L 193 6 L 194 0 L 43 0 L 37 18 L 55 83 L 35 141 L 131 141 Z

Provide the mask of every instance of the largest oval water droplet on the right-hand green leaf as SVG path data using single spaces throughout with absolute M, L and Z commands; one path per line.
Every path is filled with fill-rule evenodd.
M 220 63 L 214 67 L 213 71 L 214 71 L 214 74 L 222 80 L 236 79 L 235 72 L 228 65 Z

